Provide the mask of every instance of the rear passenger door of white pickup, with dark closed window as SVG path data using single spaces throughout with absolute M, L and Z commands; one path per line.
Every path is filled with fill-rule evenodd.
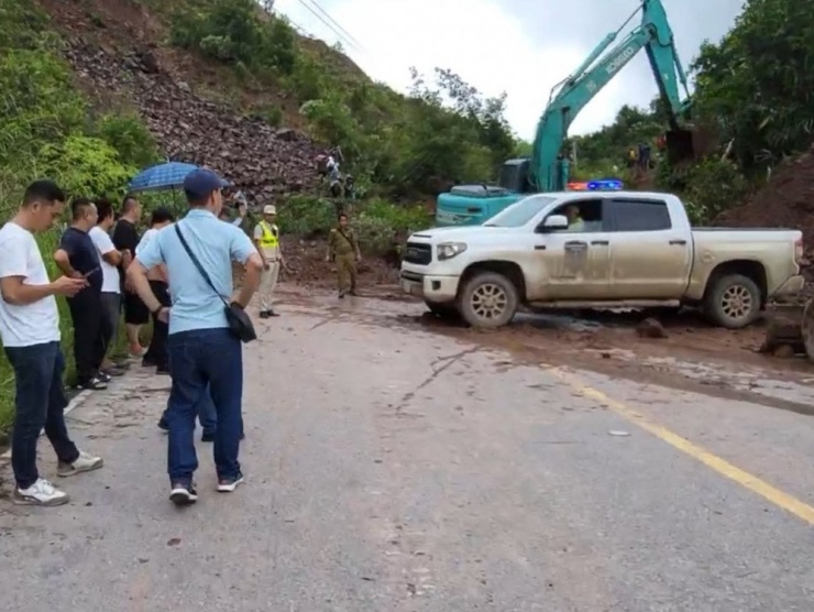
M 605 201 L 609 221 L 607 299 L 678 299 L 692 266 L 692 231 L 662 199 L 619 197 Z

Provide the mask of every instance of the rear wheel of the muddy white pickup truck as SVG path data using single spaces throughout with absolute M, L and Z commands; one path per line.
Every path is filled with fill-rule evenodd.
M 712 281 L 704 297 L 704 312 L 719 327 L 740 329 L 760 316 L 761 298 L 755 281 L 743 274 L 727 274 Z

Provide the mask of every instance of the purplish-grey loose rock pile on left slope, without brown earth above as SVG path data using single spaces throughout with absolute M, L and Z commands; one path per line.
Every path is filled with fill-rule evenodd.
M 200 98 L 164 72 L 150 50 L 120 54 L 76 37 L 66 56 L 98 91 L 127 96 L 167 157 L 216 170 L 253 205 L 318 184 L 318 150 L 305 134 Z

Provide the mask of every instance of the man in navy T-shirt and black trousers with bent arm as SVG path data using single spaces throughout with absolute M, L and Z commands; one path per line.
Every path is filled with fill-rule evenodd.
M 85 278 L 88 286 L 68 298 L 74 323 L 74 359 L 79 389 L 107 389 L 110 378 L 101 372 L 106 346 L 102 338 L 103 309 L 101 259 L 89 233 L 96 227 L 96 206 L 87 198 L 70 205 L 72 222 L 63 233 L 54 261 L 66 276 Z

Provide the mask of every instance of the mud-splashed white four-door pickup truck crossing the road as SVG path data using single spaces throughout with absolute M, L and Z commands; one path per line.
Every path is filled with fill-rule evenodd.
M 700 306 L 745 327 L 771 297 L 803 288 L 796 230 L 691 228 L 669 194 L 529 196 L 483 226 L 409 237 L 406 293 L 475 327 L 508 324 L 520 305 L 556 308 Z

